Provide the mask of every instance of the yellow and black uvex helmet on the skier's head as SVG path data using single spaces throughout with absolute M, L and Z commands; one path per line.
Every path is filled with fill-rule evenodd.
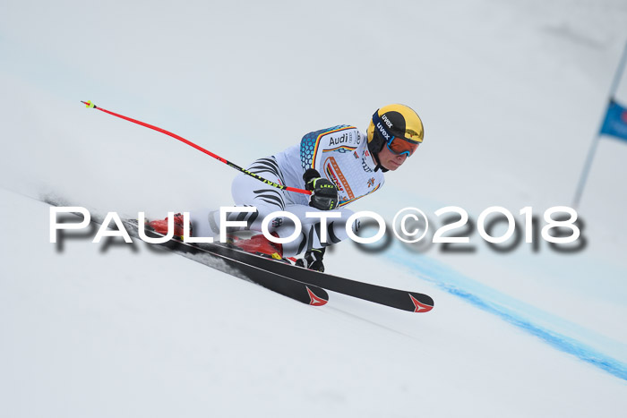
M 420 116 L 411 107 L 389 105 L 374 112 L 367 136 L 368 149 L 378 163 L 377 154 L 386 143 L 392 152 L 410 156 L 422 143 L 425 130 Z

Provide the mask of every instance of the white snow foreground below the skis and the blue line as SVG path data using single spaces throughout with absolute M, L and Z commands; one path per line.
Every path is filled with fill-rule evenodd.
M 425 315 L 341 294 L 312 308 L 140 244 L 79 238 L 59 252 L 47 205 L 1 194 L 15 237 L 0 249 L 8 416 L 618 416 L 627 404 L 624 380 L 429 283 L 414 285 L 436 300 Z

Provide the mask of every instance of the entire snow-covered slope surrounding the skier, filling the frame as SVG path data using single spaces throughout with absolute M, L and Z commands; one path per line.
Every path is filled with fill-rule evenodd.
M 401 102 L 425 144 L 354 209 L 541 216 L 571 204 L 624 21 L 609 0 L 4 2 L 3 415 L 622 416 L 623 141 L 599 144 L 580 252 L 495 252 L 475 233 L 474 252 L 327 256 L 340 276 L 432 294 L 425 315 L 340 294 L 303 306 L 142 244 L 60 251 L 24 195 L 152 217 L 230 202 L 228 166 L 79 100 L 240 165 Z

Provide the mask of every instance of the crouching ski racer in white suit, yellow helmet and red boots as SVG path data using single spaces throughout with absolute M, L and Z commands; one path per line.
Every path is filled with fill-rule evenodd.
M 354 126 L 334 126 L 307 133 L 299 144 L 257 159 L 247 167 L 248 171 L 273 183 L 305 188 L 312 194 L 287 192 L 250 175 L 237 175 L 231 187 L 236 206 L 253 206 L 256 210 L 230 213 L 227 220 L 244 220 L 247 225 L 244 229 L 262 231 L 266 216 L 284 210 L 296 215 L 302 224 L 300 236 L 290 243 L 272 243 L 260 234 L 237 242 L 237 246 L 279 259 L 305 252 L 296 264 L 324 271 L 322 258 L 326 246 L 348 238 L 346 223 L 353 212 L 346 206 L 379 190 L 384 183 L 383 173 L 402 166 L 423 137 L 423 124 L 417 113 L 397 104 L 374 112 L 366 134 Z M 328 238 L 321 242 L 321 219 L 306 218 L 305 212 L 331 209 L 339 212 L 339 218 L 328 220 Z M 219 234 L 219 210 L 192 212 L 191 225 L 195 236 Z M 167 233 L 167 220 L 152 221 L 150 226 Z M 175 235 L 182 235 L 182 226 L 182 217 L 176 215 Z M 289 218 L 279 217 L 271 220 L 269 230 L 271 235 L 284 238 L 292 235 L 295 227 Z M 357 222 L 351 228 L 356 233 Z

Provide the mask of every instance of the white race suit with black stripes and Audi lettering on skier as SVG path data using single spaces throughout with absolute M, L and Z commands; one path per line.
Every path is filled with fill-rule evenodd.
M 272 212 L 285 210 L 296 215 L 302 224 L 301 234 L 291 243 L 283 243 L 283 256 L 292 257 L 313 248 L 322 248 L 348 238 L 346 223 L 353 212 L 346 209 L 351 202 L 379 190 L 384 182 L 381 170 L 374 171 L 376 162 L 368 150 L 364 133 L 354 126 L 339 125 L 307 133 L 300 144 L 278 154 L 255 160 L 247 170 L 263 178 L 299 189 L 305 189 L 303 175 L 314 168 L 338 187 L 341 218 L 327 221 L 328 238 L 321 242 L 319 218 L 306 218 L 306 212 L 322 212 L 309 206 L 309 195 L 273 188 L 250 175 L 237 175 L 231 193 L 236 206 L 254 206 L 254 212 L 232 213 L 228 220 L 245 220 L 245 229 L 262 230 L 262 220 Z M 194 235 L 210 236 L 217 229 L 219 211 L 192 213 Z M 208 222 L 209 220 L 209 222 Z M 284 238 L 294 233 L 294 223 L 288 218 L 274 218 L 270 231 Z M 351 226 L 356 232 L 356 223 Z

